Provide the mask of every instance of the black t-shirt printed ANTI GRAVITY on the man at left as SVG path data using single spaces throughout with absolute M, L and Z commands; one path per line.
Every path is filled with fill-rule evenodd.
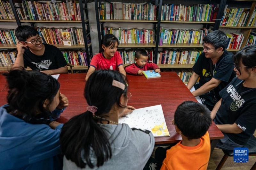
M 30 67 L 32 70 L 54 70 L 67 65 L 59 48 L 49 44 L 44 44 L 43 55 L 35 55 L 29 49 L 25 49 L 23 58 L 24 67 Z

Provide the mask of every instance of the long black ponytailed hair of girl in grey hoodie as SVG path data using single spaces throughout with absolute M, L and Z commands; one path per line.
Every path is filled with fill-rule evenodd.
M 112 86 L 112 81 L 117 80 L 125 85 L 122 90 Z M 127 85 L 123 74 L 112 70 L 96 70 L 89 77 L 84 89 L 84 97 L 89 106 L 98 107 L 96 116 L 108 113 L 117 104 L 120 104 L 122 94 L 127 95 Z M 81 115 L 74 116 L 64 124 L 60 134 L 60 148 L 66 158 L 76 163 L 80 168 L 88 165 L 93 168 L 90 160 L 91 149 L 97 158 L 97 166 L 102 166 L 105 161 L 111 158 L 112 152 L 108 137 L 91 112 L 86 111 Z M 84 159 L 81 152 L 84 151 Z

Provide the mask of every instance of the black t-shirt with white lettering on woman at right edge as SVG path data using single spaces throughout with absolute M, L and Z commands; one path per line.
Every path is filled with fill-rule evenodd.
M 216 124 L 236 123 L 243 131 L 227 133 L 237 144 L 244 145 L 256 129 L 256 88 L 243 86 L 243 80 L 234 78 L 222 91 L 221 105 L 214 122 Z

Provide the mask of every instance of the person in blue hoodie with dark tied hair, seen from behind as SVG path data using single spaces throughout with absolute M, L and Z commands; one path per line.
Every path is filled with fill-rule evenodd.
M 8 104 L 0 107 L 0 169 L 62 169 L 55 122 L 68 99 L 52 76 L 16 68 L 6 76 Z

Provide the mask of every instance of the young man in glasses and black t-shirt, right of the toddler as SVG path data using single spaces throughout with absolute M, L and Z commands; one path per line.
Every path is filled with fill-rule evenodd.
M 219 92 L 236 77 L 233 54 L 225 50 L 227 43 L 227 35 L 220 30 L 204 37 L 204 51 L 193 66 L 194 72 L 187 84 L 189 90 L 195 87 L 192 94 L 199 96 L 210 110 L 220 100 Z

